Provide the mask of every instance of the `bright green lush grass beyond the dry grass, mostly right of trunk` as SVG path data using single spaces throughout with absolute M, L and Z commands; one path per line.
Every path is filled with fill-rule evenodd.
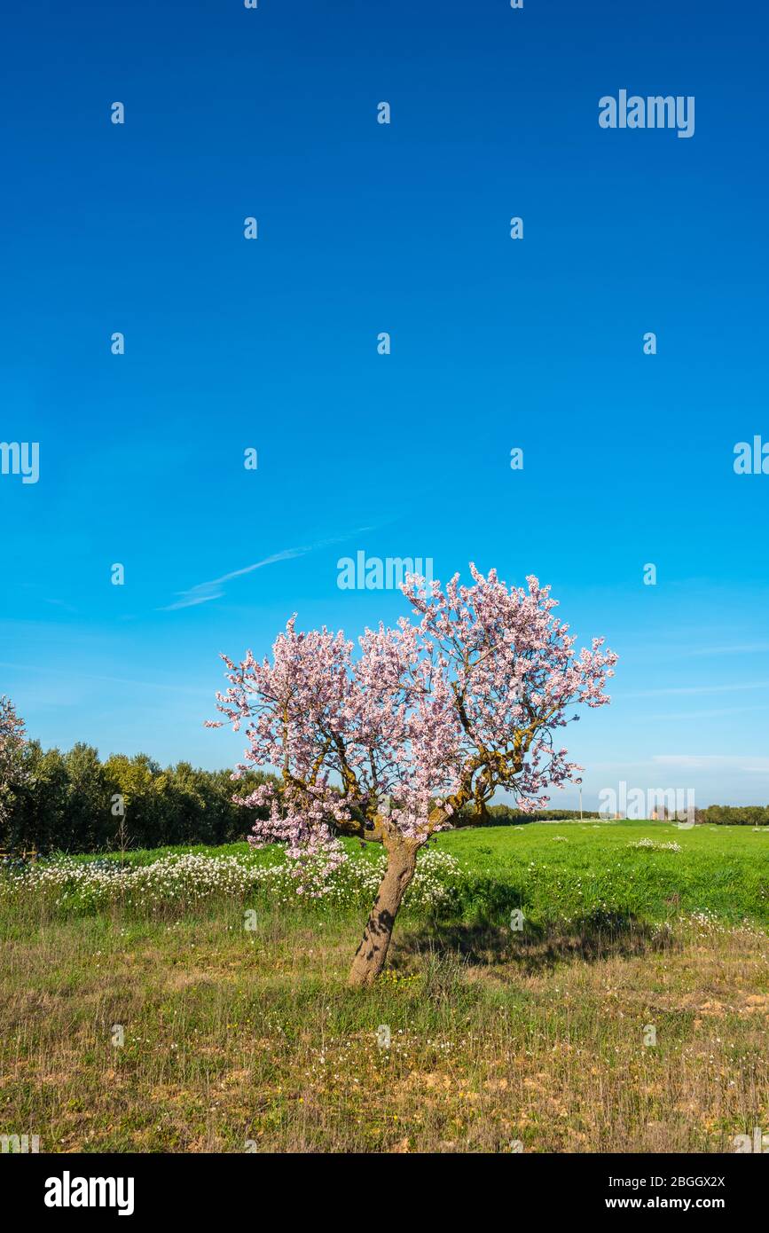
M 643 838 L 675 842 L 682 851 L 630 846 Z M 616 917 L 654 922 L 695 914 L 769 926 L 769 827 L 531 822 L 447 832 L 433 843 L 462 867 L 455 905 L 466 921 L 502 921 L 520 907 L 535 927 Z M 377 845 L 361 850 L 354 841 L 346 846 L 360 859 L 376 859 L 382 851 Z M 126 859 L 148 864 L 179 851 L 238 854 L 248 845 L 142 850 Z M 260 859 L 272 862 L 277 854 L 265 850 Z

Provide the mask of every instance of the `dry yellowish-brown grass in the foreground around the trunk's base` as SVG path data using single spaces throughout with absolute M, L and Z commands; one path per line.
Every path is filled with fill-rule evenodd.
M 439 947 L 404 924 L 387 978 L 349 990 L 359 925 L 9 925 L 0 1132 L 53 1152 L 721 1152 L 769 1128 L 765 933 L 467 927 Z

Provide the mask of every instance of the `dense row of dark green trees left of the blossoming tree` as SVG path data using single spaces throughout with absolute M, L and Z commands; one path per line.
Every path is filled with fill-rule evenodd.
M 0 811 L 0 851 L 104 852 L 171 843 L 229 843 L 250 831 L 255 810 L 235 805 L 271 778 L 200 771 L 189 762 L 161 767 L 145 753 L 105 762 L 90 745 L 67 753 L 28 741 Z

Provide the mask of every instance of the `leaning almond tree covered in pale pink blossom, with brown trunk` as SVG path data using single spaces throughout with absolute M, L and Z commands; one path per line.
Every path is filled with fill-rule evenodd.
M 555 735 L 577 718 L 567 718 L 576 703 L 609 702 L 616 655 L 603 639 L 577 652 L 548 587 L 529 577 L 526 588 L 508 588 L 472 565 L 471 573 L 471 586 L 456 575 L 445 589 L 409 575 L 412 619 L 366 630 L 356 656 L 343 634 L 297 633 L 295 618 L 271 660 L 222 656 L 229 687 L 217 707 L 235 731 L 245 725 L 249 745 L 234 778 L 249 766 L 281 778 L 277 789 L 237 798 L 269 809 L 250 842 L 334 862 L 346 835 L 387 852 L 355 985 L 384 967 L 419 848 L 466 806 L 483 821 L 497 789 L 531 811 L 548 787 L 578 783 L 582 768 Z

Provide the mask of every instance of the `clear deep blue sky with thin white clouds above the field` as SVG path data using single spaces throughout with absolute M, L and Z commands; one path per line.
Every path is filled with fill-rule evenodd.
M 4 35 L 0 440 L 41 473 L 0 475 L 0 692 L 31 735 L 229 764 L 219 651 L 394 621 L 340 556 L 474 560 L 621 656 L 569 730 L 585 806 L 767 801 L 769 476 L 732 466 L 769 440 L 765 15 L 132 0 Z M 620 89 L 695 96 L 694 137 L 599 128 Z

